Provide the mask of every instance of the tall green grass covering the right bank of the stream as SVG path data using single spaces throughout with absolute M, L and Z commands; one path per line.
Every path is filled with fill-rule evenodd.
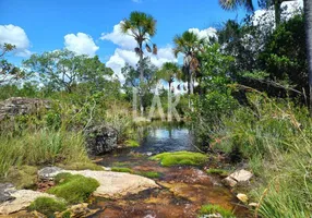
M 255 216 L 305 218 L 312 211 L 312 119 L 307 108 L 256 93 L 223 119 L 213 148 L 239 155 L 260 178 Z

